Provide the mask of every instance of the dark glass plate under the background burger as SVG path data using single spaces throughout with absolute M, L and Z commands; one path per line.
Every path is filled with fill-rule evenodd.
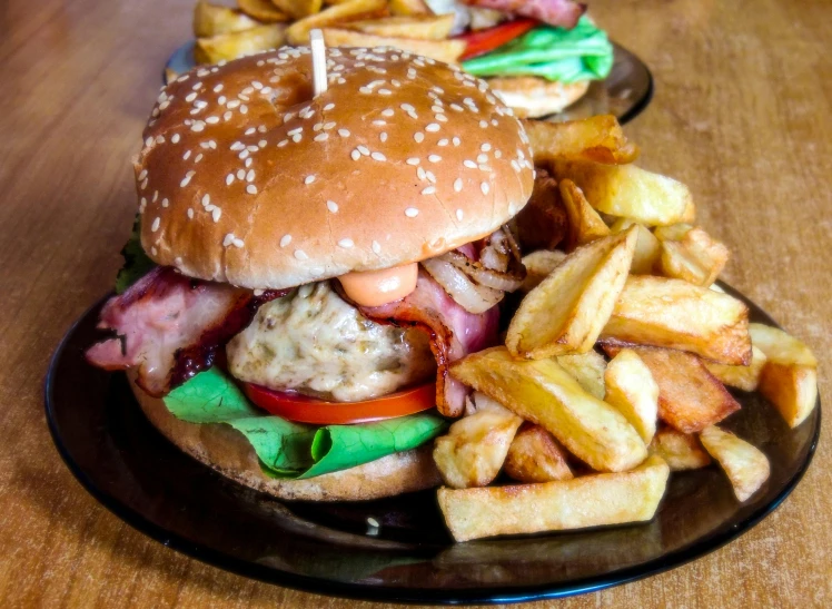
M 613 42 L 615 62 L 605 80 L 594 81 L 584 97 L 563 112 L 551 115 L 546 120 L 573 120 L 595 115 L 612 114 L 622 125 L 638 116 L 653 98 L 653 76 L 647 66 L 624 47 Z M 179 47 L 168 59 L 162 81 L 169 80 L 196 67 L 194 40 Z

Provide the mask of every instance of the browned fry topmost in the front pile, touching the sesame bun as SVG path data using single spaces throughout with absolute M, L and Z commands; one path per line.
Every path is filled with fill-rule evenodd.
M 618 165 L 638 158 L 638 147 L 624 137 L 614 116 L 594 116 L 583 120 L 549 122 L 523 120 L 534 161 L 587 160 Z

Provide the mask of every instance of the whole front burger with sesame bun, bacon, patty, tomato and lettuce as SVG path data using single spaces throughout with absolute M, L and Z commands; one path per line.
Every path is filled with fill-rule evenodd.
M 485 81 L 389 48 L 307 47 L 164 88 L 135 160 L 138 216 L 109 334 L 182 451 L 284 499 L 439 482 L 466 407 L 448 365 L 498 342 L 532 195 L 521 121 Z

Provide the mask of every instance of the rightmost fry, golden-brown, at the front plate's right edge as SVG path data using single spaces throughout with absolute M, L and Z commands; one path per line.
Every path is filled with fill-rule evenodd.
M 818 403 L 818 360 L 801 341 L 776 327 L 750 324 L 751 340 L 765 354 L 761 393 L 796 428 Z

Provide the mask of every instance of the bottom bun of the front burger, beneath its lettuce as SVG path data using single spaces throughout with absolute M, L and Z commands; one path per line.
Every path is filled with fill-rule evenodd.
M 280 499 L 365 501 L 420 491 L 440 482 L 433 443 L 308 480 L 269 478 L 263 473 L 251 445 L 230 425 L 186 423 L 170 414 L 161 400 L 139 389 L 132 377 L 130 387 L 148 420 L 184 452 L 231 480 Z

